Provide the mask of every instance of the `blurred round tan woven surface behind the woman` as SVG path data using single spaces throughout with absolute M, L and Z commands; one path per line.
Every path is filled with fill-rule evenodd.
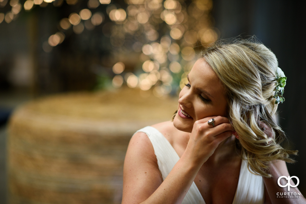
M 139 90 L 48 96 L 19 107 L 9 122 L 10 203 L 121 203 L 132 134 L 170 120 L 177 98 Z

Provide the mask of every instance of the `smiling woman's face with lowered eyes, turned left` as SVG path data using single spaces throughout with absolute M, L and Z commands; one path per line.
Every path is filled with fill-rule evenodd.
M 210 116 L 226 116 L 225 89 L 205 60 L 195 62 L 188 74 L 188 81 L 179 93 L 178 113 L 173 120 L 178 130 L 191 132 L 197 120 Z

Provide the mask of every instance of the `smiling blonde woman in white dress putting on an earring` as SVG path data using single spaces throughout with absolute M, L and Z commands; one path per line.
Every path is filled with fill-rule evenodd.
M 297 154 L 280 146 L 275 121 L 285 80 L 275 55 L 252 39 L 202 50 L 173 120 L 131 138 L 122 203 L 306 203 L 292 179 L 290 191 L 278 185 Z

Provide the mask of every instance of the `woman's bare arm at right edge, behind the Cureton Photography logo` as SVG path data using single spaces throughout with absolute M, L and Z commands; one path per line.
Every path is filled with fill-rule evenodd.
M 268 194 L 266 194 L 266 203 L 272 203 L 272 204 L 306 204 L 306 199 L 304 198 L 304 196 L 302 194 L 300 194 L 300 190 L 297 187 L 290 187 L 290 191 L 288 191 L 287 187 L 280 187 L 278 185 L 278 178 L 280 176 L 290 176 L 287 166 L 286 166 L 286 162 L 285 161 L 276 161 L 270 164 L 270 173 L 273 176 L 271 179 L 265 178 L 263 177 L 263 181 L 265 183 L 266 186 L 266 192 Z M 288 182 L 288 180 L 282 178 L 280 180 L 280 184 L 281 185 L 286 185 Z M 295 186 L 293 180 L 290 180 L 290 184 L 292 186 Z M 293 196 L 291 198 L 279 198 L 277 196 L 281 196 L 280 194 L 282 193 L 282 195 L 284 196 L 285 194 L 290 194 L 290 196 Z M 292 193 L 292 195 L 291 195 Z M 294 198 L 294 193 L 296 193 L 297 198 Z M 298 194 L 300 194 L 298 196 Z M 286 196 L 286 195 L 285 195 Z

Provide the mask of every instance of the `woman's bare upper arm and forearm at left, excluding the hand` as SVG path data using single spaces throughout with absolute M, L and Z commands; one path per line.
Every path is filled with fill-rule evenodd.
M 131 139 L 124 161 L 122 203 L 181 203 L 200 167 L 183 154 L 163 182 L 153 146 L 139 132 Z

